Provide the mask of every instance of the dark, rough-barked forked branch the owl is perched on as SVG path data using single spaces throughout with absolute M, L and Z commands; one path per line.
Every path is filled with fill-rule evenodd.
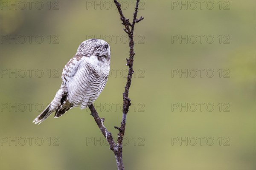
M 129 37 L 129 47 L 130 47 L 130 57 L 129 59 L 126 59 L 126 65 L 129 67 L 128 75 L 127 75 L 127 82 L 125 85 L 125 91 L 123 93 L 123 109 L 122 109 L 122 122 L 120 127 L 116 127 L 116 129 L 119 130 L 117 143 L 114 142 L 112 134 L 107 130 L 107 128 L 104 126 L 104 118 L 100 118 L 97 111 L 95 110 L 93 104 L 89 106 L 91 115 L 93 116 L 95 122 L 97 123 L 99 129 L 101 130 L 102 134 L 105 136 L 105 138 L 108 141 L 108 144 L 110 146 L 110 149 L 113 150 L 113 153 L 116 157 L 116 166 L 118 170 L 124 170 L 124 165 L 122 161 L 122 141 L 123 137 L 125 135 L 125 125 L 126 125 L 126 115 L 129 111 L 129 107 L 131 105 L 131 99 L 128 98 L 129 95 L 129 89 L 131 86 L 131 79 L 133 71 L 133 63 L 134 63 L 134 26 L 135 23 L 140 22 L 143 20 L 143 17 L 140 17 L 140 19 L 137 19 L 137 12 L 138 12 L 138 6 L 139 1 L 137 0 L 134 15 L 133 15 L 133 21 L 132 23 L 129 22 L 129 19 L 126 19 L 125 16 L 122 13 L 121 5 L 117 0 L 114 0 L 114 3 L 116 4 L 117 10 L 120 14 L 120 20 L 122 21 L 122 24 L 125 26 L 123 29 Z

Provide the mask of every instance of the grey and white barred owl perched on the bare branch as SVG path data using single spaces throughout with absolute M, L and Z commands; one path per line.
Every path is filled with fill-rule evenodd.
M 55 112 L 55 118 L 73 107 L 90 106 L 102 92 L 110 70 L 110 46 L 100 39 L 86 40 L 62 71 L 61 88 L 52 102 L 33 122 L 41 123 Z

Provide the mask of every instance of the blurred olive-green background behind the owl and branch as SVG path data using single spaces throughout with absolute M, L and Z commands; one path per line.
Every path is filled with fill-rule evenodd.
M 64 65 L 93 36 L 111 45 L 111 75 L 94 105 L 116 137 L 129 47 L 114 3 L 0 2 L 0 169 L 116 169 L 88 109 L 32 123 L 60 87 Z M 121 2 L 131 20 L 134 1 Z M 140 3 L 138 17 L 145 19 L 134 32 L 127 169 L 256 169 L 255 6 L 254 0 Z M 180 35 L 188 42 L 175 40 Z M 187 77 L 180 74 L 186 69 Z

